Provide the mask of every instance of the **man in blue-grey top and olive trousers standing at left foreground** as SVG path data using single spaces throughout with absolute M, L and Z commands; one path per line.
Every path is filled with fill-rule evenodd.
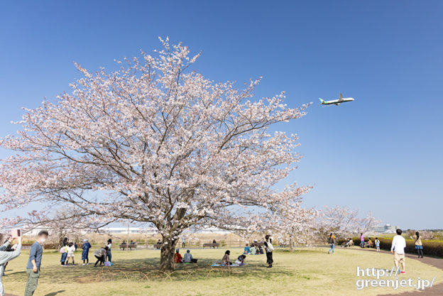
M 37 290 L 43 256 L 43 243 L 48 239 L 48 236 L 48 231 L 40 231 L 37 240 L 31 246 L 31 251 L 29 251 L 29 260 L 28 265 L 26 266 L 28 280 L 26 280 L 25 296 L 32 296 L 34 295 L 35 290 Z

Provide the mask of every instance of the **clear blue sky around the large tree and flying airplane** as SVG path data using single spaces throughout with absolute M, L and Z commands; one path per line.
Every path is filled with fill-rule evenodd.
M 442 1 L 4 1 L 0 135 L 70 90 L 73 60 L 114 67 L 168 35 L 203 50 L 195 70 L 212 80 L 263 75 L 257 95 L 315 103 L 284 128 L 300 135 L 288 182 L 315 186 L 307 204 L 443 228 L 442 15 Z M 318 105 L 339 92 L 355 102 Z

